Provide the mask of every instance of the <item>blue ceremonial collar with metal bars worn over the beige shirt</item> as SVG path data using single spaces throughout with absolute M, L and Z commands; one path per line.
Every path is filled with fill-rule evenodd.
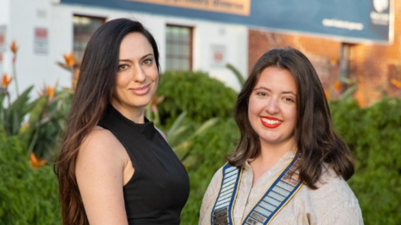
M 286 169 L 277 177 L 265 194 L 247 214 L 243 225 L 266 225 L 290 201 L 300 189 L 297 152 Z M 223 166 L 219 195 L 213 207 L 211 225 L 233 225 L 232 213 L 237 191 L 241 181 L 242 169 L 228 163 Z

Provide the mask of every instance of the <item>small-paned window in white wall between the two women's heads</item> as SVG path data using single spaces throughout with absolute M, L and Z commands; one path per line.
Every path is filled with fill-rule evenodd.
M 192 70 L 192 28 L 166 27 L 166 70 Z

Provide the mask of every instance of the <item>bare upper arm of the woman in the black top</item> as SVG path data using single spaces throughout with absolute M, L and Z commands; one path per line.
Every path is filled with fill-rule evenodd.
M 91 131 L 79 149 L 75 173 L 91 225 L 128 225 L 123 194 L 124 157 L 121 143 L 100 127 Z

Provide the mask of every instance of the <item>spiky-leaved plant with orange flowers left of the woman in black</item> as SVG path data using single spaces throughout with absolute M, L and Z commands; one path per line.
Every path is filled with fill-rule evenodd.
M 65 129 L 72 91 L 57 90 L 54 95 L 55 87 L 48 86 L 51 94 L 43 91 L 31 101 L 32 88 L 24 90 L 14 102 L 10 102 L 8 90 L 0 88 L 0 127 L 7 136 L 17 135 L 26 152 L 53 160 L 59 149 L 57 137 Z M 7 107 L 4 106 L 5 99 L 8 100 Z

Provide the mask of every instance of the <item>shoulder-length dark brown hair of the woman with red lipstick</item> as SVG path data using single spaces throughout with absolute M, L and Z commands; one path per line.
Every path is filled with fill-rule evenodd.
M 316 189 L 315 183 L 322 174 L 322 163 L 328 163 L 337 175 L 348 180 L 354 174 L 352 156 L 346 143 L 333 131 L 323 86 L 308 58 L 289 47 L 272 49 L 263 54 L 239 92 L 234 117 L 241 137 L 229 156 L 229 163 L 241 167 L 260 151 L 259 137 L 249 123 L 248 100 L 261 72 L 269 66 L 289 70 L 297 85 L 294 135 L 302 155 L 301 180 L 308 187 Z

